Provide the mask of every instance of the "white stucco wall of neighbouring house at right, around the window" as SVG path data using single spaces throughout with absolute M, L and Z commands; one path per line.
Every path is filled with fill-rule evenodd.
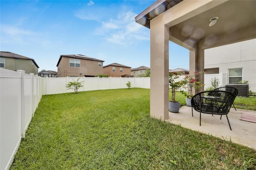
M 218 67 L 219 73 L 228 73 L 228 69 L 242 68 L 242 80 L 256 91 L 256 39 L 206 49 L 204 54 L 205 69 Z

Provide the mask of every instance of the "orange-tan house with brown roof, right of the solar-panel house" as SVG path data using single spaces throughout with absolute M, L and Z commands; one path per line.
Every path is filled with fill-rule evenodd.
M 126 65 L 112 63 L 103 67 L 103 74 L 109 77 L 134 77 L 134 75 L 131 75 L 131 68 Z

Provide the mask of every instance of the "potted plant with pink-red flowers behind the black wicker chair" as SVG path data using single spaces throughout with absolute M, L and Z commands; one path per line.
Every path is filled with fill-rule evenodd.
M 186 75 L 184 77 L 184 83 L 185 86 L 180 91 L 185 97 L 186 97 L 186 104 L 187 106 L 191 107 L 191 98 L 193 97 L 192 88 L 194 89 L 200 89 L 200 87 L 203 87 L 204 84 L 202 84 L 201 81 L 198 81 L 198 77 L 196 75 L 199 75 L 202 73 L 202 71 L 198 72 L 196 71 L 194 75 Z M 184 91 L 186 89 L 186 91 Z

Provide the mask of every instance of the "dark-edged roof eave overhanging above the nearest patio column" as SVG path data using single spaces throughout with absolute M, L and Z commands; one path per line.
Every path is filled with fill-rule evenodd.
M 157 0 L 156 2 L 154 2 L 154 4 L 152 4 L 146 10 L 136 16 L 135 22 L 141 24 L 142 26 L 150 28 L 150 20 L 182 1 L 183 0 Z

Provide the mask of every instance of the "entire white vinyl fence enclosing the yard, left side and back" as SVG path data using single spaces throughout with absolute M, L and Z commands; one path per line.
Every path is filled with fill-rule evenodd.
M 210 86 L 211 78 L 220 80 L 220 87 L 226 84 L 225 74 L 205 75 L 205 87 Z M 183 77 L 181 76 L 180 79 Z M 10 167 L 19 148 L 20 140 L 25 137 L 26 129 L 36 111 L 42 95 L 74 92 L 67 90 L 66 84 L 76 81 L 76 77 L 38 77 L 24 71 L 11 71 L 0 68 L 0 170 Z M 150 89 L 150 77 L 81 77 L 84 87 L 79 91 L 128 88 Z

